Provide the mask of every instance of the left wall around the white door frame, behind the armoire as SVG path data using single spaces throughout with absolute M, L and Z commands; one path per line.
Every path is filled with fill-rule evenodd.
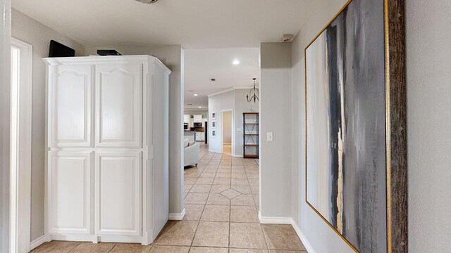
M 45 90 L 46 72 L 42 58 L 49 56 L 54 39 L 85 55 L 85 46 L 13 9 L 12 36 L 33 46 L 32 72 L 32 182 L 31 240 L 44 235 L 44 157 L 45 157 Z

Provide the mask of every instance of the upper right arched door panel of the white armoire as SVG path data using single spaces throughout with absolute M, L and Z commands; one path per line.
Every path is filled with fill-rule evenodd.
M 96 145 L 140 148 L 142 65 L 96 66 Z

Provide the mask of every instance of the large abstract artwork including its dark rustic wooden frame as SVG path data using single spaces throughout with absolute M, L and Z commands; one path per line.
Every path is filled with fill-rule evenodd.
M 355 252 L 407 252 L 404 1 L 351 0 L 305 48 L 306 201 Z

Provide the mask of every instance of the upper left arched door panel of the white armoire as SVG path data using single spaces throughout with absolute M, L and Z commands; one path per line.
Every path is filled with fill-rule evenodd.
M 49 147 L 91 145 L 92 66 L 51 67 Z

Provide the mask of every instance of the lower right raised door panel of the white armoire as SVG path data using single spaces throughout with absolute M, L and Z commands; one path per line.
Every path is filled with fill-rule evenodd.
M 140 235 L 141 153 L 97 153 L 96 223 L 99 235 Z

